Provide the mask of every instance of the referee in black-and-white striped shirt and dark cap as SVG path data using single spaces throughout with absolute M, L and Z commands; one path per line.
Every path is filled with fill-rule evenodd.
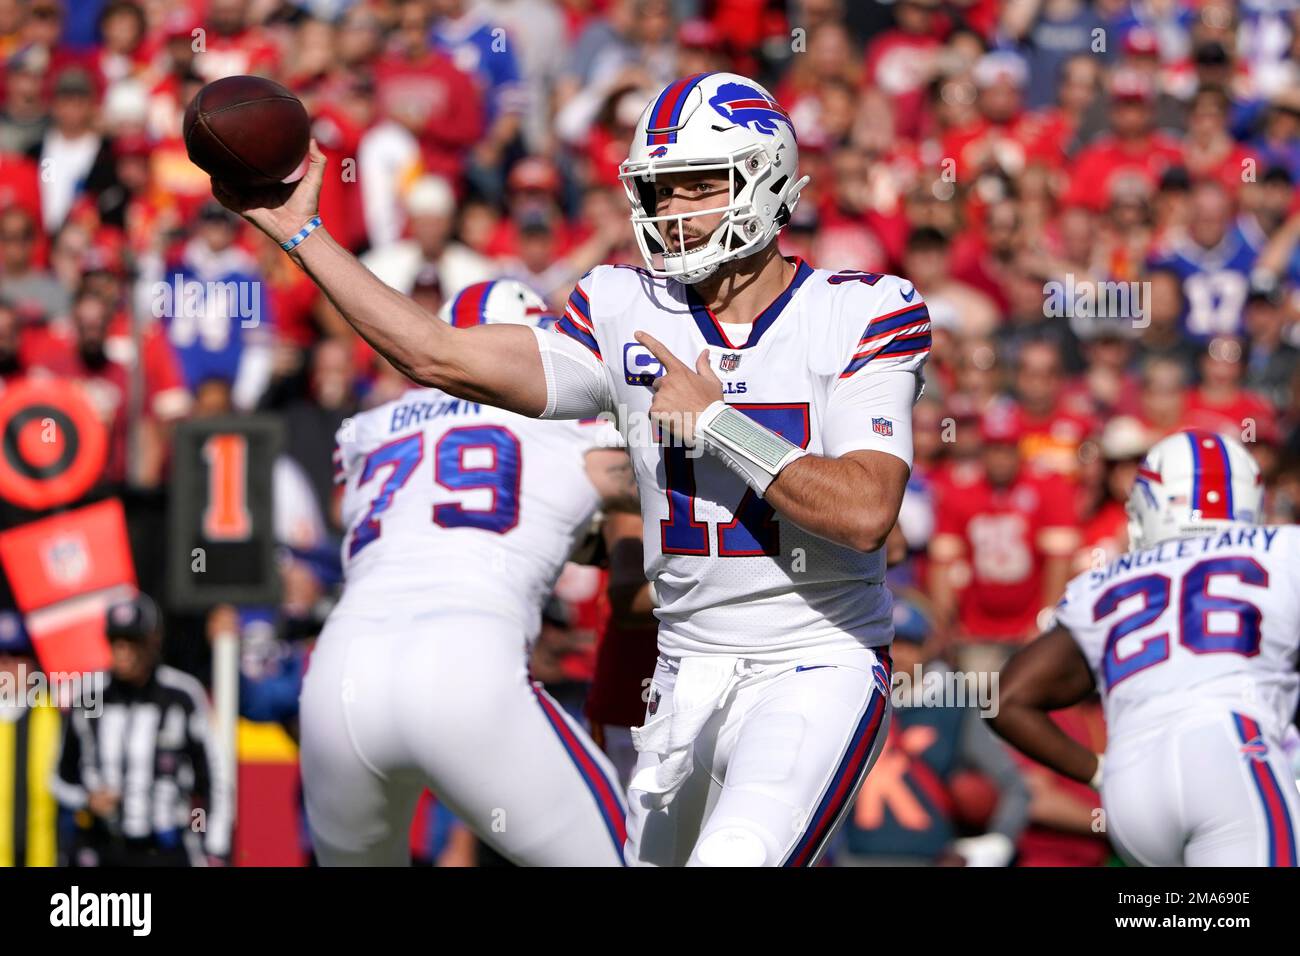
M 160 663 L 159 611 L 146 594 L 109 607 L 108 639 L 101 713 L 70 713 L 55 780 L 77 818 L 69 864 L 222 864 L 231 787 L 203 685 Z

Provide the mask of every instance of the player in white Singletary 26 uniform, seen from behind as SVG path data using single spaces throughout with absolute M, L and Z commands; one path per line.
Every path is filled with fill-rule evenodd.
M 1256 524 L 1261 498 L 1234 438 L 1157 444 L 1128 496 L 1131 550 L 1075 578 L 1056 626 L 1001 674 L 994 730 L 1100 788 L 1132 862 L 1296 865 L 1283 737 L 1300 693 L 1300 527 Z M 1104 756 L 1048 717 L 1093 689 Z

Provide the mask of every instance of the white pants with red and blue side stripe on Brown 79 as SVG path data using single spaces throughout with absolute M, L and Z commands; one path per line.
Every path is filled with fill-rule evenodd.
M 332 617 L 303 684 L 302 773 L 326 866 L 407 865 L 425 787 L 512 862 L 623 864 L 614 767 L 490 614 Z

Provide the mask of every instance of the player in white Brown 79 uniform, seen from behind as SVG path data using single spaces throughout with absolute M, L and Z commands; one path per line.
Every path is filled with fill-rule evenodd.
M 443 317 L 554 321 L 543 312 L 500 280 L 463 290 Z M 598 486 L 636 507 L 611 436 L 601 421 L 537 421 L 434 389 L 339 429 L 346 581 L 300 711 L 322 864 L 404 865 L 425 787 L 514 862 L 621 864 L 618 775 L 528 676 L 542 605 L 592 527 Z

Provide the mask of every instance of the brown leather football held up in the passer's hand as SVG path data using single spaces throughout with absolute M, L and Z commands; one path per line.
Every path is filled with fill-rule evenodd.
M 265 186 L 307 155 L 311 118 L 289 90 L 264 77 L 226 77 L 199 90 L 185 111 L 190 161 L 216 179 Z

